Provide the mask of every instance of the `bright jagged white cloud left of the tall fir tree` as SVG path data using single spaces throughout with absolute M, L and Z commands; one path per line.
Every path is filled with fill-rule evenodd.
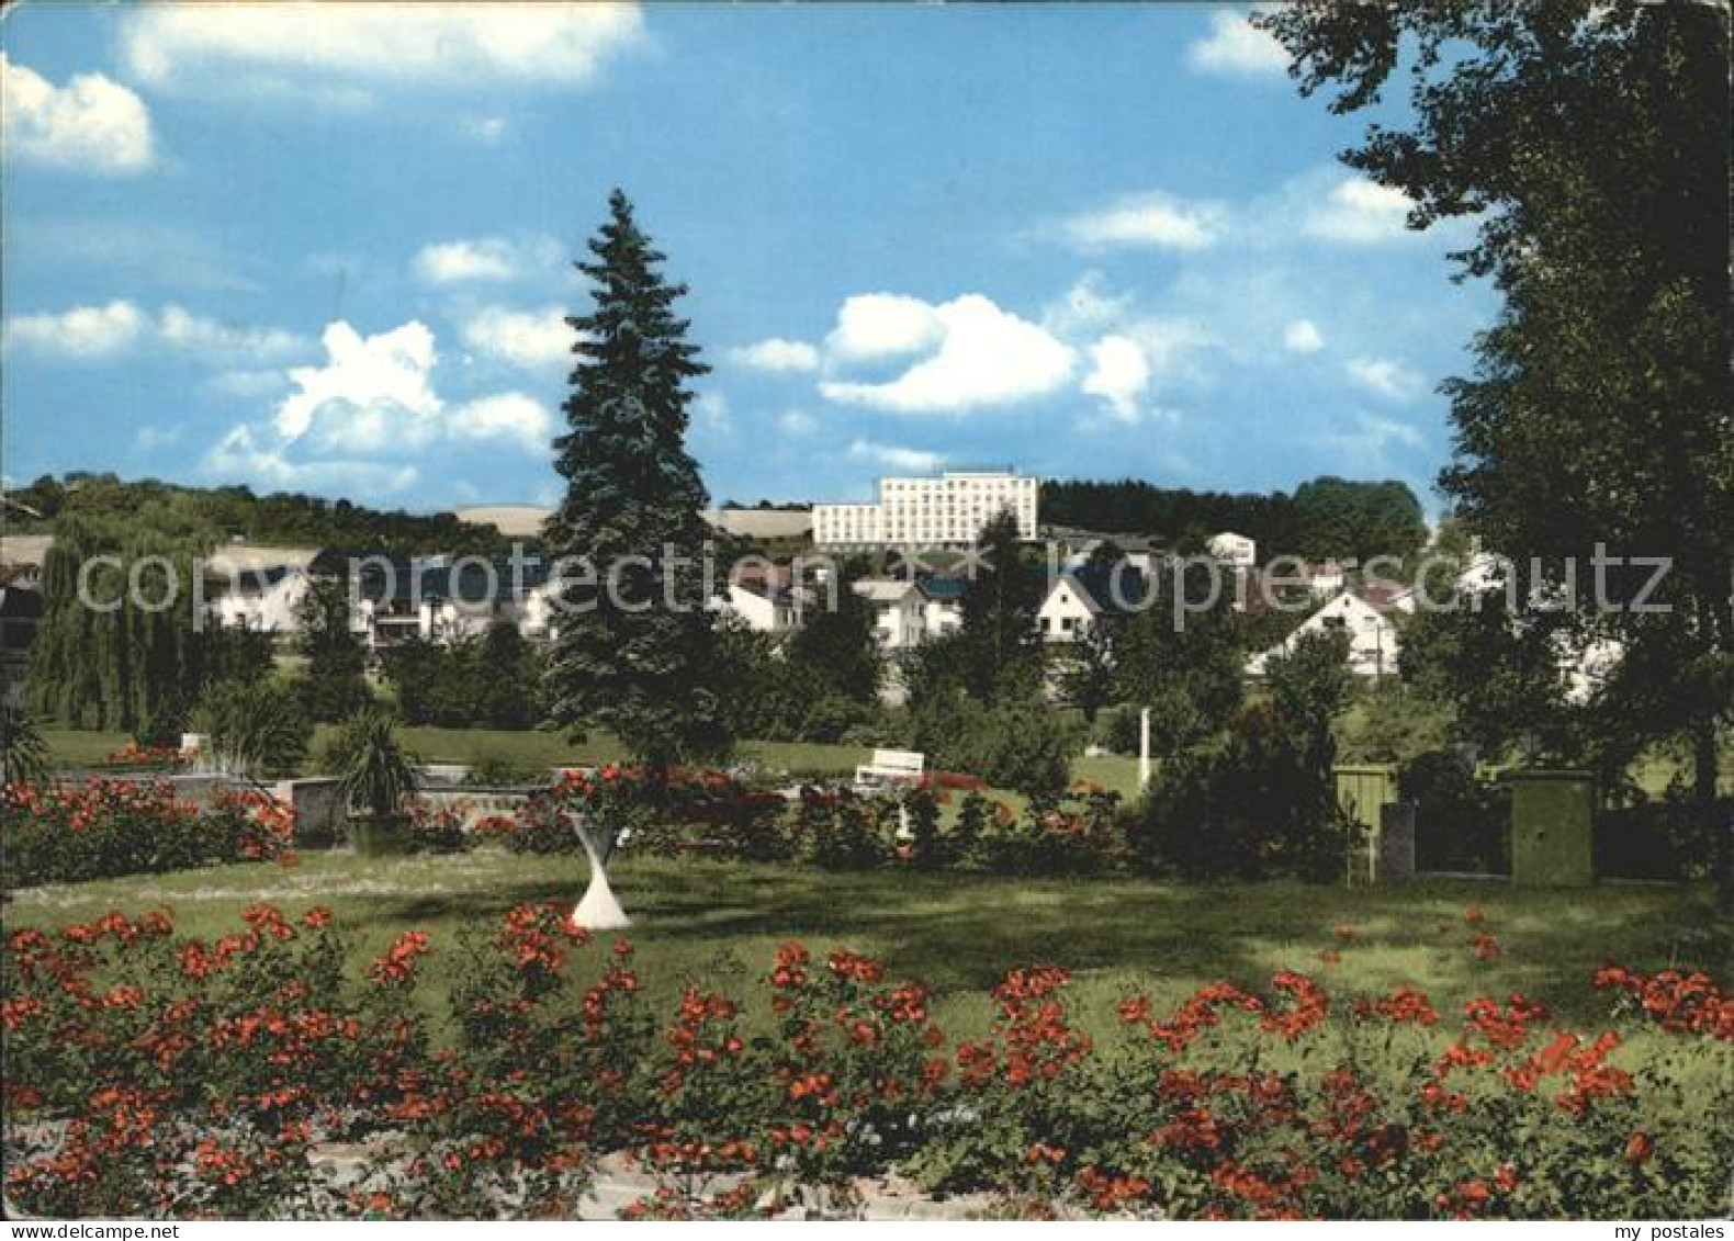
M 284 440 L 317 430 L 328 445 L 373 449 L 394 435 L 420 440 L 434 428 L 442 402 L 430 383 L 435 350 L 427 324 L 411 319 L 361 336 L 336 321 L 321 340 L 324 366 L 290 369 L 297 390 L 274 414 Z

